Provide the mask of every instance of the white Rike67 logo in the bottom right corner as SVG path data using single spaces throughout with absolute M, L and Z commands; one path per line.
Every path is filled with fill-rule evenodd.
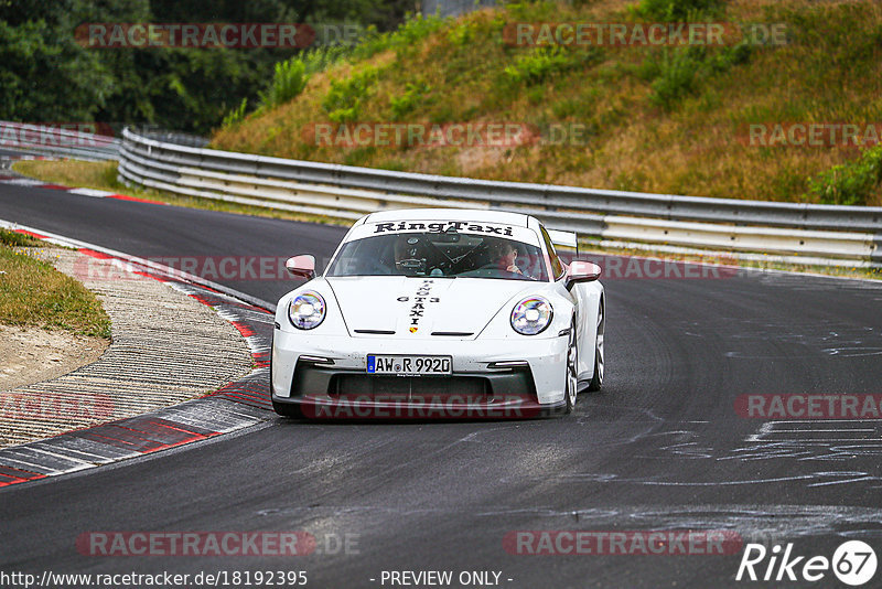
M 840 544 L 832 558 L 797 556 L 793 543 L 783 549 L 776 544 L 771 550 L 762 544 L 747 544 L 735 580 L 814 582 L 829 579 L 832 571 L 841 582 L 858 587 L 873 578 L 876 564 L 875 551 L 861 540 Z

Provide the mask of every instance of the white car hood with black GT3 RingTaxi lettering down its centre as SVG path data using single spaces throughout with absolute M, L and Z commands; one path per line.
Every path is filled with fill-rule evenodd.
M 483 278 L 326 280 L 353 338 L 474 339 L 513 298 L 536 289 L 535 282 Z

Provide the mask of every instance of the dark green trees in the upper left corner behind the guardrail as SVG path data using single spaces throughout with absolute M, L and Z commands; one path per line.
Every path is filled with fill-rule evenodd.
M 0 119 L 150 124 L 207 133 L 294 49 L 96 49 L 83 23 L 353 23 L 385 31 L 410 0 L 0 0 Z

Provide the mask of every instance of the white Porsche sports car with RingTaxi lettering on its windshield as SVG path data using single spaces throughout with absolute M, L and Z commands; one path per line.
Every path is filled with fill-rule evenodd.
M 552 238 L 552 236 L 555 236 Z M 276 311 L 276 411 L 311 418 L 530 417 L 570 413 L 603 383 L 601 269 L 555 250 L 576 235 L 497 211 L 359 218 L 324 274 Z

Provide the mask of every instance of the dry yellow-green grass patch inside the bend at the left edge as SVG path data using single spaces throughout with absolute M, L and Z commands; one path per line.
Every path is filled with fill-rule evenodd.
M 0 323 L 62 329 L 110 339 L 110 319 L 83 285 L 29 255 L 26 244 L 0 235 Z

